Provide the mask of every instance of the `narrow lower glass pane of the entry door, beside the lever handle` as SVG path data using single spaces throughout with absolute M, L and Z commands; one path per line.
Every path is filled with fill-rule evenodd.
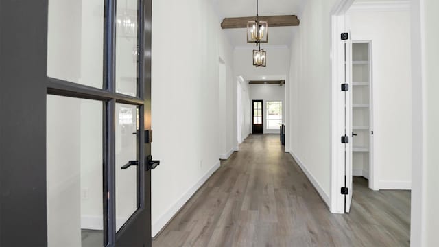
M 137 106 L 116 104 L 116 231 L 137 210 Z

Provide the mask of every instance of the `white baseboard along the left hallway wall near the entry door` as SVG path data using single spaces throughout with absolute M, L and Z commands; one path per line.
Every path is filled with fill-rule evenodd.
M 160 215 L 160 217 L 158 217 L 158 220 L 152 222 L 153 237 L 156 237 L 156 235 L 162 230 L 162 228 L 164 228 L 167 223 L 174 217 L 174 215 L 176 215 L 176 213 L 180 211 L 180 209 L 191 198 L 191 196 L 193 196 L 193 194 L 198 191 L 198 189 L 200 189 L 200 187 L 206 182 L 206 180 L 208 180 L 212 176 L 212 174 L 216 172 L 216 170 L 219 168 L 219 164 L 220 162 L 217 161 L 217 163 L 215 163 L 215 165 L 213 165 L 213 167 L 211 167 L 211 169 L 209 169 L 209 171 L 207 171 L 206 174 L 204 174 L 204 176 L 202 176 L 197 183 L 195 183 L 185 193 L 183 193 L 182 196 L 178 198 L 178 200 L 176 200 L 176 202 L 174 202 L 174 204 L 172 204 L 171 207 L 169 207 L 165 211 L 165 213 Z

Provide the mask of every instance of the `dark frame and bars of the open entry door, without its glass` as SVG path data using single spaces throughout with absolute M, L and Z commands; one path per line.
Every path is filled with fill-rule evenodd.
M 139 0 L 139 97 L 115 91 L 115 0 L 104 0 L 103 89 L 47 77 L 48 0 L 0 1 L 0 246 L 47 246 L 48 94 L 104 102 L 104 239 L 107 246 L 151 245 L 150 172 L 140 172 L 143 200 L 117 234 L 114 197 L 116 104 L 139 106 L 139 130 L 151 128 L 151 1 Z M 150 143 L 143 132 L 138 141 L 145 171 Z

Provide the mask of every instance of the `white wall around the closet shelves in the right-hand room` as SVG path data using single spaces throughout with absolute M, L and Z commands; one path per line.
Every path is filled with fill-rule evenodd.
M 410 10 L 357 10 L 349 12 L 348 18 L 353 41 L 372 41 L 372 162 L 377 189 L 410 189 Z

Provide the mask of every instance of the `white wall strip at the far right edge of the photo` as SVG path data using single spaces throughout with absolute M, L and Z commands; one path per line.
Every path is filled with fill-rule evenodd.
M 414 169 L 423 169 L 423 180 L 420 180 L 423 207 L 421 217 L 423 222 L 420 231 L 423 231 L 422 246 L 439 246 L 439 16 L 437 10 L 439 2 L 436 0 L 421 0 L 420 10 L 424 16 L 420 17 L 420 45 L 422 49 L 423 65 L 423 151 L 424 162 Z M 416 202 L 418 203 L 418 202 Z M 416 213 L 416 215 L 419 215 Z M 418 244 L 418 242 L 416 242 Z

